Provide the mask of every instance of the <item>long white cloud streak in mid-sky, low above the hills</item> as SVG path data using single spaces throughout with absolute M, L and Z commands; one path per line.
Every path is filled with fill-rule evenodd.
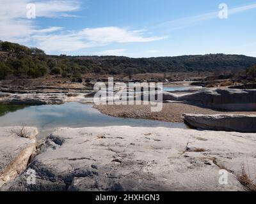
M 132 31 L 121 27 L 98 27 L 86 28 L 77 32 L 72 31 L 71 33 L 35 34 L 32 38 L 38 43 L 38 47 L 47 53 L 60 50 L 72 52 L 84 48 L 102 47 L 112 43 L 145 43 L 166 38 L 164 36 L 145 37 L 144 34 L 142 31 Z

